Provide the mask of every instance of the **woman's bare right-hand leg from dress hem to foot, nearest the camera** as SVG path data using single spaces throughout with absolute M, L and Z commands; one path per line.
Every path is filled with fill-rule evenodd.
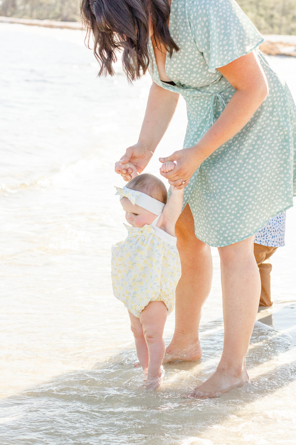
M 261 289 L 253 242 L 252 236 L 218 249 L 221 258 L 224 347 L 216 372 L 194 389 L 193 396 L 215 396 L 249 381 L 245 357 Z

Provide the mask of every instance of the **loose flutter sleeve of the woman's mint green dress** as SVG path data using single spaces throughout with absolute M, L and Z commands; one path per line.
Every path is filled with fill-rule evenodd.
M 188 18 L 210 73 L 250 53 L 264 41 L 234 0 L 189 0 Z

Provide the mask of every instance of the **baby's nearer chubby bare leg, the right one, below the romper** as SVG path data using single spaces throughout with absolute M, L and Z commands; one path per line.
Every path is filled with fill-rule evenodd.
M 166 317 L 167 308 L 163 301 L 150 301 L 140 315 L 149 353 L 148 388 L 158 388 L 162 381 L 161 366 L 166 351 L 162 335 Z

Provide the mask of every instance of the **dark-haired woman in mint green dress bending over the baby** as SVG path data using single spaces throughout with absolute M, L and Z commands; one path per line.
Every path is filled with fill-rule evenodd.
M 121 158 L 138 172 L 148 164 L 185 98 L 183 150 L 162 173 L 185 187 L 176 225 L 182 277 L 169 359 L 201 357 L 198 324 L 218 247 L 224 348 L 216 372 L 193 391 L 215 396 L 249 381 L 245 366 L 260 298 L 254 234 L 292 203 L 295 105 L 258 46 L 263 38 L 233 0 L 83 0 L 100 74 L 113 74 L 115 50 L 134 80 L 149 69 L 152 85 L 138 142 Z M 269 87 L 269 93 L 268 93 Z M 295 159 L 295 158 L 294 158 Z M 163 162 L 164 159 L 160 158 Z M 129 169 L 115 171 L 130 180 Z

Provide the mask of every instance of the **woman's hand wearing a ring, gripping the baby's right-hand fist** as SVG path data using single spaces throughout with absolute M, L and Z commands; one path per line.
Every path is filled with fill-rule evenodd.
M 167 158 L 159 158 L 159 161 L 177 161 L 174 170 L 166 173 L 162 171 L 163 169 L 161 167 L 159 171 L 164 178 L 169 180 L 169 184 L 174 186 L 175 190 L 178 190 L 187 186 L 191 176 L 201 165 L 203 159 L 199 159 L 197 147 L 190 147 L 175 151 Z M 184 184 L 182 184 L 183 181 Z

